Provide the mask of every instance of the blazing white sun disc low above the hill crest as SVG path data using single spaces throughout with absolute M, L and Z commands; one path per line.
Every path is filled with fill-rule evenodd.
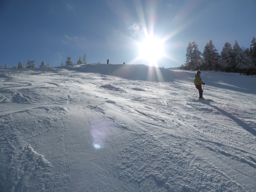
M 164 55 L 164 46 L 161 40 L 148 37 L 144 42 L 139 44 L 140 58 L 148 60 L 150 63 L 156 62 L 157 59 Z

